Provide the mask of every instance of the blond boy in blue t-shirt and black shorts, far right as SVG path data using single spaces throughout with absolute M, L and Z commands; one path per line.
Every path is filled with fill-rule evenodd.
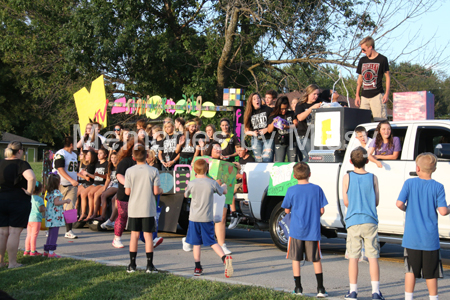
M 405 181 L 397 207 L 406 212 L 402 246 L 405 248 L 405 300 L 413 299 L 416 278 L 425 278 L 430 300 L 437 300 L 437 278 L 442 278 L 438 215 L 450 213 L 444 186 L 431 179 L 437 157 L 422 153 L 416 158 L 418 177 Z

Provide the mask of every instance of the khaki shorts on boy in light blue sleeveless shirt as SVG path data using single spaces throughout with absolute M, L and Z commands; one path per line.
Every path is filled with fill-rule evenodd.
M 348 258 L 359 258 L 361 256 L 361 240 L 364 241 L 367 258 L 380 257 L 377 224 L 364 223 L 350 226 L 347 229 Z

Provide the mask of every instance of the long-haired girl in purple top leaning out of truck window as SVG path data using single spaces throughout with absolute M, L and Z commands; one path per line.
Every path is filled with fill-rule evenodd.
M 369 160 L 378 168 L 382 168 L 383 165 L 379 159 L 398 159 L 401 150 L 400 139 L 392 135 L 391 124 L 388 121 L 381 121 L 375 130 L 375 138 L 369 146 Z

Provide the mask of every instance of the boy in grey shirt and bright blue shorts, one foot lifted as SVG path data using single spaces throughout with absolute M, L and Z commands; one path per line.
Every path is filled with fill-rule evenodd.
M 225 277 L 233 275 L 232 257 L 226 256 L 222 247 L 214 239 L 214 193 L 219 195 L 227 193 L 227 186 L 220 180 L 214 181 L 206 176 L 208 163 L 198 159 L 194 163 L 195 179 L 190 181 L 184 192 L 186 198 L 192 195 L 189 213 L 189 228 L 186 242 L 193 245 L 195 269 L 194 276 L 200 276 L 203 268 L 200 263 L 201 245 L 211 248 L 222 258 L 225 264 Z

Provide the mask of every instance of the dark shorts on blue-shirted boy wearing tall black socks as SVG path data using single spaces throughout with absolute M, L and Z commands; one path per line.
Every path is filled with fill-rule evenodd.
M 303 254 L 304 258 L 303 258 Z M 322 258 L 320 241 L 302 241 L 289 237 L 287 259 L 318 262 Z

